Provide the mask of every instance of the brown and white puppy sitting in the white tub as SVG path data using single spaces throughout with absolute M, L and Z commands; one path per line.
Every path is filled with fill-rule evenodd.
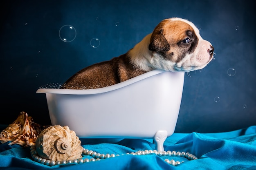
M 212 58 L 213 46 L 202 39 L 192 22 L 168 18 L 127 53 L 83 68 L 61 88 L 106 87 L 154 69 L 189 72 L 204 68 Z

